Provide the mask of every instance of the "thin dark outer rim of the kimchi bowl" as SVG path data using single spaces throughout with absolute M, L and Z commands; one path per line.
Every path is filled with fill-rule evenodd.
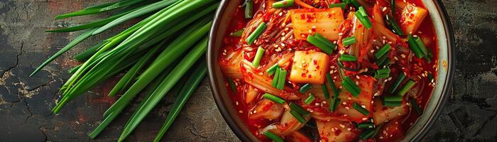
M 216 31 L 219 29 L 219 22 L 221 20 L 221 14 L 226 10 L 226 4 L 228 4 L 229 0 L 222 0 L 219 8 L 216 11 L 216 16 L 214 17 L 214 21 L 212 23 L 211 31 L 209 32 L 209 45 L 207 49 L 207 67 L 209 71 L 209 83 L 212 91 L 212 96 L 214 97 L 214 102 L 216 102 L 217 108 L 221 112 L 224 121 L 228 124 L 231 131 L 235 133 L 235 135 L 240 138 L 241 141 L 251 141 L 251 138 L 244 133 L 240 126 L 236 124 L 234 118 L 232 118 L 224 107 L 225 103 L 222 100 L 222 97 L 219 93 L 219 88 L 216 87 L 215 82 L 215 74 L 214 72 L 214 62 L 217 62 L 217 59 L 214 59 L 214 40 L 212 37 L 215 37 Z M 435 105 L 435 109 L 433 113 L 429 116 L 425 125 L 422 126 L 420 131 L 411 139 L 411 141 L 420 141 L 427 133 L 427 130 L 435 123 L 438 119 L 438 116 L 442 113 L 445 104 L 447 104 L 447 98 L 449 93 L 451 93 L 451 87 L 454 80 L 454 65 L 455 65 L 455 41 L 454 41 L 454 32 L 452 29 L 452 24 L 449 21 L 449 16 L 447 15 L 447 11 L 444 8 L 441 0 L 433 1 L 435 6 L 437 7 L 437 11 L 440 14 L 440 18 L 442 18 L 442 24 L 444 26 L 445 35 L 447 37 L 447 78 L 444 80 L 444 86 L 442 89 L 442 94 L 440 95 L 439 101 Z M 252 136 L 252 138 L 255 138 Z

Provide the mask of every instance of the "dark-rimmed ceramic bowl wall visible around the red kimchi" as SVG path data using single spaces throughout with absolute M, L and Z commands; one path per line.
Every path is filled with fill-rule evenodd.
M 455 44 L 449 16 L 444 10 L 441 1 L 423 0 L 430 11 L 430 18 L 435 26 L 438 43 L 438 75 L 435 90 L 430 101 L 424 109 L 424 114 L 415 122 L 406 133 L 402 141 L 421 141 L 430 126 L 435 122 L 447 102 L 451 91 L 454 76 Z M 214 101 L 219 108 L 224 120 L 241 141 L 258 141 L 238 116 L 238 111 L 233 107 L 224 82 L 224 77 L 217 62 L 219 48 L 226 33 L 226 28 L 231 18 L 229 17 L 240 4 L 237 0 L 222 0 L 217 9 L 214 24 L 210 32 L 209 49 L 207 50 L 207 65 L 209 67 L 209 80 L 212 87 Z

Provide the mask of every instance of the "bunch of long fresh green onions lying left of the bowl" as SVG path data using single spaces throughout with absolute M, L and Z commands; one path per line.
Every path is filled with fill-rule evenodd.
M 178 92 L 175 104 L 155 138 L 155 141 L 160 141 L 207 72 L 206 62 L 199 59 L 207 49 L 207 33 L 217 6 L 217 0 L 121 0 L 57 16 L 56 19 L 61 19 L 119 10 L 99 21 L 48 31 L 85 30 L 43 62 L 32 75 L 83 40 L 130 19 L 142 17 L 140 22 L 75 56 L 75 60 L 82 64 L 70 70 L 72 76 L 61 87 L 62 98 L 52 111 L 58 113 L 72 99 L 109 77 L 125 72 L 109 96 L 119 92 L 124 94 L 105 111 L 104 121 L 89 136 L 98 136 L 134 97 L 143 94 L 143 101 L 119 137 L 119 141 L 123 141 L 165 94 Z M 186 81 L 181 84 L 179 80 Z

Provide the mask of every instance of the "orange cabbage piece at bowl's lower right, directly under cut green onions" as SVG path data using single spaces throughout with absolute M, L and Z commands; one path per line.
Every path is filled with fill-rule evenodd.
M 375 125 L 405 116 L 409 112 L 409 106 L 402 102 L 399 107 L 384 107 L 381 99 L 374 99 L 373 122 Z

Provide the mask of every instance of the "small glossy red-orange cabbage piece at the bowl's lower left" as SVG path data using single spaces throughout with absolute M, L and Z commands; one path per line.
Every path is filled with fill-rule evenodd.
M 261 99 L 261 101 L 257 102 L 256 107 L 251 109 L 249 119 L 278 119 L 284 111 L 283 105 L 269 99 Z

